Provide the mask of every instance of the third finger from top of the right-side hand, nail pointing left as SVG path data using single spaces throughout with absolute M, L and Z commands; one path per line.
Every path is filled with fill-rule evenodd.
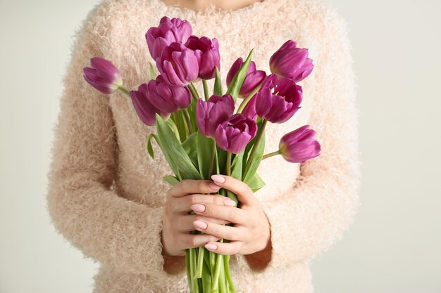
M 242 226 L 225 226 L 203 219 L 194 221 L 193 225 L 196 230 L 223 239 L 246 241 L 248 238 L 247 230 Z

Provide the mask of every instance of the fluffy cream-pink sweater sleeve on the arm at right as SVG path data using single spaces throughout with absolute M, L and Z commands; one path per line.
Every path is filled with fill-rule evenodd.
M 311 83 L 317 92 L 307 123 L 316 130 L 321 155 L 300 164 L 292 189 L 261 203 L 271 224 L 271 257 L 266 266 L 313 259 L 340 240 L 358 211 L 356 83 L 347 22 L 334 13 L 318 41 L 316 76 Z M 304 91 L 307 94 L 308 89 Z M 294 129 L 290 121 L 281 126 L 287 128 L 285 132 Z M 294 164 L 286 166 L 281 168 L 290 172 Z

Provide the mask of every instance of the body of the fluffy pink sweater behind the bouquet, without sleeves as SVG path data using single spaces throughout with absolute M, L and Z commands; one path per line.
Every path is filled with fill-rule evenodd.
M 153 63 L 144 38 L 149 27 L 156 27 L 163 15 L 169 18 L 186 19 L 193 27 L 193 34 L 198 36 L 216 37 L 221 53 L 221 76 L 223 89 L 226 88 L 225 77 L 230 65 L 238 58 L 246 58 L 254 48 L 254 62 L 258 70 L 269 70 L 269 58 L 280 46 L 293 39 L 299 46 L 309 48 L 309 56 L 314 59 L 316 40 L 309 24 L 308 11 L 312 4 L 302 0 L 264 0 L 255 2 L 237 11 L 194 11 L 180 10 L 166 6 L 161 0 L 125 0 L 107 1 L 108 15 L 111 20 L 106 29 L 106 38 L 102 43 L 103 57 L 111 60 L 123 75 L 124 84 L 128 89 L 137 89 L 139 84 L 149 80 L 149 63 Z M 154 63 L 153 63 L 154 64 Z M 280 137 L 306 124 L 310 115 L 310 100 L 315 93 L 313 74 L 308 80 L 300 83 L 304 87 L 302 108 L 285 124 L 268 124 L 266 129 L 266 152 L 278 149 Z M 213 81 L 209 81 L 212 89 Z M 201 84 L 196 84 L 199 93 L 203 93 Z M 236 107 L 240 103 L 237 100 Z M 130 200 L 159 207 L 163 204 L 166 190 L 170 188 L 163 181 L 163 176 L 172 174 L 159 147 L 153 143 L 155 158 L 147 152 L 147 137 L 154 127 L 141 122 L 132 106 L 130 98 L 117 92 L 110 96 L 114 124 L 118 138 L 118 164 L 114 188 L 118 195 Z M 261 162 L 258 173 L 266 182 L 256 192 L 259 200 L 271 200 L 284 193 L 294 184 L 299 175 L 299 164 L 286 162 L 276 156 Z M 232 256 L 232 274 L 238 288 L 244 292 L 294 292 L 290 288 L 280 287 L 275 290 L 276 283 L 291 280 L 297 285 L 299 292 L 309 292 L 309 263 L 293 264 L 287 271 L 274 271 L 271 268 L 264 272 L 251 271 L 243 256 Z M 187 275 L 182 273 L 174 276 L 175 285 L 168 284 L 168 289 L 160 289 L 160 280 L 149 279 L 148 276 L 135 276 L 118 273 L 111 268 L 101 267 L 96 278 L 94 292 L 138 292 L 136 288 L 144 285 L 147 291 L 139 292 L 187 292 Z M 119 284 L 137 284 L 125 291 L 121 285 L 114 289 L 110 284 L 116 278 Z M 140 287 L 139 287 L 140 286 Z M 159 286 L 159 287 L 156 287 Z M 242 286 L 242 287 L 241 287 Z M 104 289 L 107 288 L 107 289 Z M 112 289 L 113 288 L 113 289 Z M 286 291 L 283 291 L 286 290 Z M 297 291 L 296 291 L 297 292 Z

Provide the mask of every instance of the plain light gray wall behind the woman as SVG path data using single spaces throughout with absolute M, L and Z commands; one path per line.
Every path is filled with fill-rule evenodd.
M 330 1 L 350 27 L 364 178 L 354 226 L 313 261 L 316 292 L 440 293 L 441 2 Z M 73 32 L 97 3 L 0 1 L 1 293 L 92 292 L 97 264 L 44 196 Z

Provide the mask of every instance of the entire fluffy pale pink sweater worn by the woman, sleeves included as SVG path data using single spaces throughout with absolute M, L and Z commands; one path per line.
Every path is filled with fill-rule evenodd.
M 266 186 L 255 195 L 271 223 L 271 255 L 254 261 L 233 255 L 230 266 L 237 289 L 246 293 L 313 292 L 311 259 L 354 221 L 361 181 L 347 22 L 321 0 L 263 0 L 236 11 L 211 6 L 196 12 L 161 0 L 94 6 L 75 33 L 54 126 L 47 209 L 57 232 L 101 264 L 95 293 L 189 292 L 184 258 L 167 260 L 171 269 L 164 269 L 161 229 L 170 185 L 162 178 L 171 171 L 157 145 L 155 159 L 148 155 L 147 136 L 155 128 L 141 122 L 124 93 L 104 95 L 82 77 L 89 59 L 100 56 L 118 67 L 126 87 L 147 82 L 153 60 L 144 34 L 163 15 L 218 39 L 224 89 L 230 65 L 251 48 L 256 67 L 267 73 L 271 54 L 287 39 L 309 48 L 315 67 L 299 83 L 302 108 L 284 124 L 268 124 L 266 153 L 278 149 L 283 134 L 309 124 L 321 155 L 303 164 L 281 156 L 263 160 L 258 172 Z M 202 93 L 201 84 L 197 89 Z

